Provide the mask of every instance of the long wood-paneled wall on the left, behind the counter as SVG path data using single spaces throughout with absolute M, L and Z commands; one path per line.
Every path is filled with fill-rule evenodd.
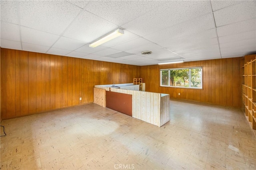
M 140 66 L 1 48 L 1 118 L 91 103 L 94 85 L 136 77 Z

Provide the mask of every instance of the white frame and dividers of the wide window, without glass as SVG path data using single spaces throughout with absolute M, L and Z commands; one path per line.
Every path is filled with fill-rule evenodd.
M 195 88 L 191 87 L 191 81 L 189 81 L 189 87 L 180 87 L 180 86 L 171 86 L 170 85 L 170 70 L 182 70 L 182 69 L 189 69 L 189 77 L 191 78 L 191 69 L 193 68 L 201 68 L 202 73 L 201 73 L 201 87 L 200 88 Z M 168 70 L 168 85 L 162 85 L 162 70 Z M 194 90 L 203 90 L 203 72 L 204 72 L 204 67 L 203 66 L 196 66 L 196 67 L 184 67 L 184 68 L 162 68 L 160 69 L 160 87 L 170 87 L 170 88 L 185 88 L 185 89 L 194 89 Z M 189 78 L 189 80 L 190 80 Z

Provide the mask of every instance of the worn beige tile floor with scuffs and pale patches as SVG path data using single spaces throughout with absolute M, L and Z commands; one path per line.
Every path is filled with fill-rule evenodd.
M 156 127 L 88 104 L 4 120 L 1 169 L 256 169 L 240 109 L 171 100 L 170 119 Z

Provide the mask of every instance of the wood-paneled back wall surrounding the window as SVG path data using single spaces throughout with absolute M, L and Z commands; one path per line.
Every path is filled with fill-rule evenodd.
M 241 57 L 142 66 L 141 77 L 148 92 L 170 94 L 170 98 L 241 107 L 240 59 Z M 160 87 L 160 69 L 195 66 L 203 66 L 203 90 Z

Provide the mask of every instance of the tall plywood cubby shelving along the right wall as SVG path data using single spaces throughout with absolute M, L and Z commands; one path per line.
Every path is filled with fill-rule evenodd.
M 256 55 L 246 55 L 241 63 L 242 110 L 256 135 Z

